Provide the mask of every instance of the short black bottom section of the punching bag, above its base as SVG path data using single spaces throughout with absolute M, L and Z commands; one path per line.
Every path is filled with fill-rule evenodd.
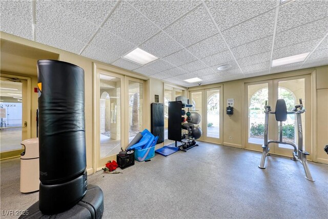
M 87 172 L 66 183 L 40 183 L 39 208 L 45 214 L 66 211 L 78 203 L 87 191 Z

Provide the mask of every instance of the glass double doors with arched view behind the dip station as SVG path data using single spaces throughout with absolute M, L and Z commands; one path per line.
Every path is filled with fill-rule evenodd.
M 272 111 L 275 111 L 277 99 L 284 99 L 287 110 L 299 104 L 302 99 L 306 112 L 301 114 L 303 128 L 303 150 L 312 152 L 311 146 L 311 76 L 300 75 L 284 77 L 267 81 L 245 84 L 245 148 L 261 151 L 264 143 L 264 105 L 268 101 Z M 285 142 L 294 142 L 297 145 L 296 116 L 288 114 L 287 121 L 283 122 L 282 138 Z M 269 115 L 269 139 L 279 139 L 279 126 L 273 114 Z M 270 152 L 292 156 L 293 147 L 284 144 L 270 144 Z M 309 156 L 311 159 L 311 155 Z

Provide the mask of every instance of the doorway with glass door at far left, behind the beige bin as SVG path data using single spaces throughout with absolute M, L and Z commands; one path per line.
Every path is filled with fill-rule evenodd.
M 0 78 L 1 159 L 19 156 L 20 143 L 30 137 L 29 79 L 2 74 Z

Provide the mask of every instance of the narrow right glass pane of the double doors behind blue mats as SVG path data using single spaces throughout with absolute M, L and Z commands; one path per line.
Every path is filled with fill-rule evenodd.
M 129 143 L 142 131 L 143 86 L 142 83 L 129 81 Z

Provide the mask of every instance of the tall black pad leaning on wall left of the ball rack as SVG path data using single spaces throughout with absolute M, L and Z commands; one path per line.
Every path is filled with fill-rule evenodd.
M 157 144 L 164 142 L 164 106 L 159 103 L 151 104 L 151 132 L 158 136 Z

